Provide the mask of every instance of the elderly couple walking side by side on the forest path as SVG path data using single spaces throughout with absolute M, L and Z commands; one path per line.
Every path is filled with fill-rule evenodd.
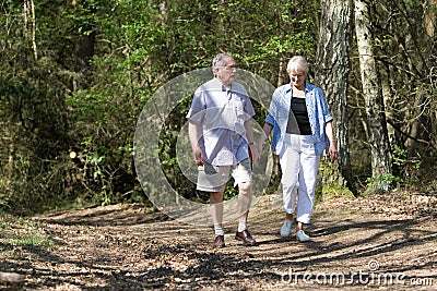
M 231 177 L 238 185 L 235 239 L 244 245 L 256 245 L 247 226 L 252 198 L 251 163 L 259 160 L 262 144 L 271 133 L 271 149 L 279 155 L 282 169 L 285 219 L 280 233 L 291 234 L 295 216 L 297 241 L 309 241 L 304 226 L 309 223 L 312 213 L 320 156 L 328 149 L 331 160 L 335 160 L 338 151 L 333 118 L 323 92 L 306 82 L 307 61 L 300 56 L 290 60 L 286 70 L 291 82 L 274 90 L 263 125 L 265 135 L 257 143 L 250 121 L 255 110 L 245 87 L 235 82 L 235 59 L 218 53 L 212 70 L 214 77 L 196 90 L 187 119 L 198 166 L 197 189 L 210 193 L 213 246 L 225 246 L 223 194 Z

